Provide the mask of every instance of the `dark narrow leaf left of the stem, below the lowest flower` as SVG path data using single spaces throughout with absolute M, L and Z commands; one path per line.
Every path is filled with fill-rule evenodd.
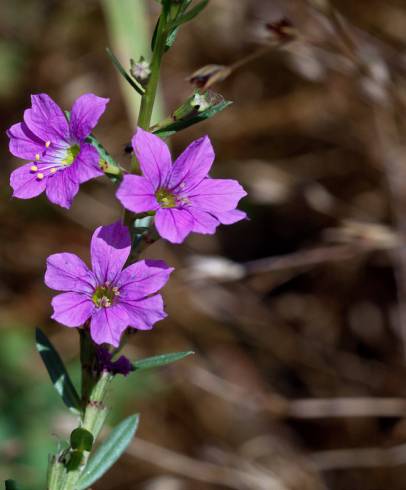
M 48 337 L 39 329 L 35 330 L 37 351 L 42 358 L 54 388 L 65 405 L 74 413 L 80 411 L 79 395 L 70 379 L 65 365 Z

